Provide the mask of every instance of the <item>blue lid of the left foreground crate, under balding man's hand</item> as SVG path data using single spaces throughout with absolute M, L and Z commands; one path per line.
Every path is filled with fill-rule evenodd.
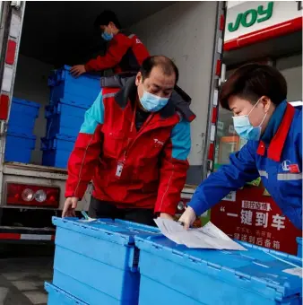
M 57 227 L 77 231 L 92 237 L 115 242 L 121 245 L 134 245 L 134 236 L 161 235 L 156 227 L 144 224 L 125 222 L 120 220 L 99 219 L 95 222 L 87 222 L 78 218 L 53 217 L 53 224 Z

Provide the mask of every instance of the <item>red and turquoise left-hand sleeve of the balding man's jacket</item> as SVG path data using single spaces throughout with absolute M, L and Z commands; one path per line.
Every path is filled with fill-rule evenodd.
M 84 123 L 74 144 L 74 151 L 68 161 L 66 197 L 74 196 L 82 199 L 85 194 L 100 156 L 103 119 L 104 106 L 102 92 L 100 92 L 97 100 L 85 113 Z

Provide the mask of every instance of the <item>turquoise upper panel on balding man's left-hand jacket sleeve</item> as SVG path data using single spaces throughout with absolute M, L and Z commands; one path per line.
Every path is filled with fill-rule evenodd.
M 104 121 L 104 105 L 102 91 L 99 93 L 97 99 L 91 105 L 91 108 L 85 112 L 84 122 L 81 126 L 80 133 L 93 135 L 99 124 Z

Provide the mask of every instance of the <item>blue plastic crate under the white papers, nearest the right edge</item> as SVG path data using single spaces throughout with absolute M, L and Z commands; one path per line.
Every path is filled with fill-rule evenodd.
M 302 260 L 241 244 L 247 251 L 193 249 L 165 237 L 135 237 L 139 304 L 299 305 L 302 278 L 285 270 L 301 271 Z

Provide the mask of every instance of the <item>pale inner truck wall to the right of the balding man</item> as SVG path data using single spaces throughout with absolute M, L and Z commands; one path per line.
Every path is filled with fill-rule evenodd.
M 178 85 L 192 97 L 191 108 L 197 118 L 191 124 L 191 165 L 201 165 L 203 159 L 215 17 L 215 2 L 179 2 L 131 28 L 152 55 L 175 61 L 180 72 Z

